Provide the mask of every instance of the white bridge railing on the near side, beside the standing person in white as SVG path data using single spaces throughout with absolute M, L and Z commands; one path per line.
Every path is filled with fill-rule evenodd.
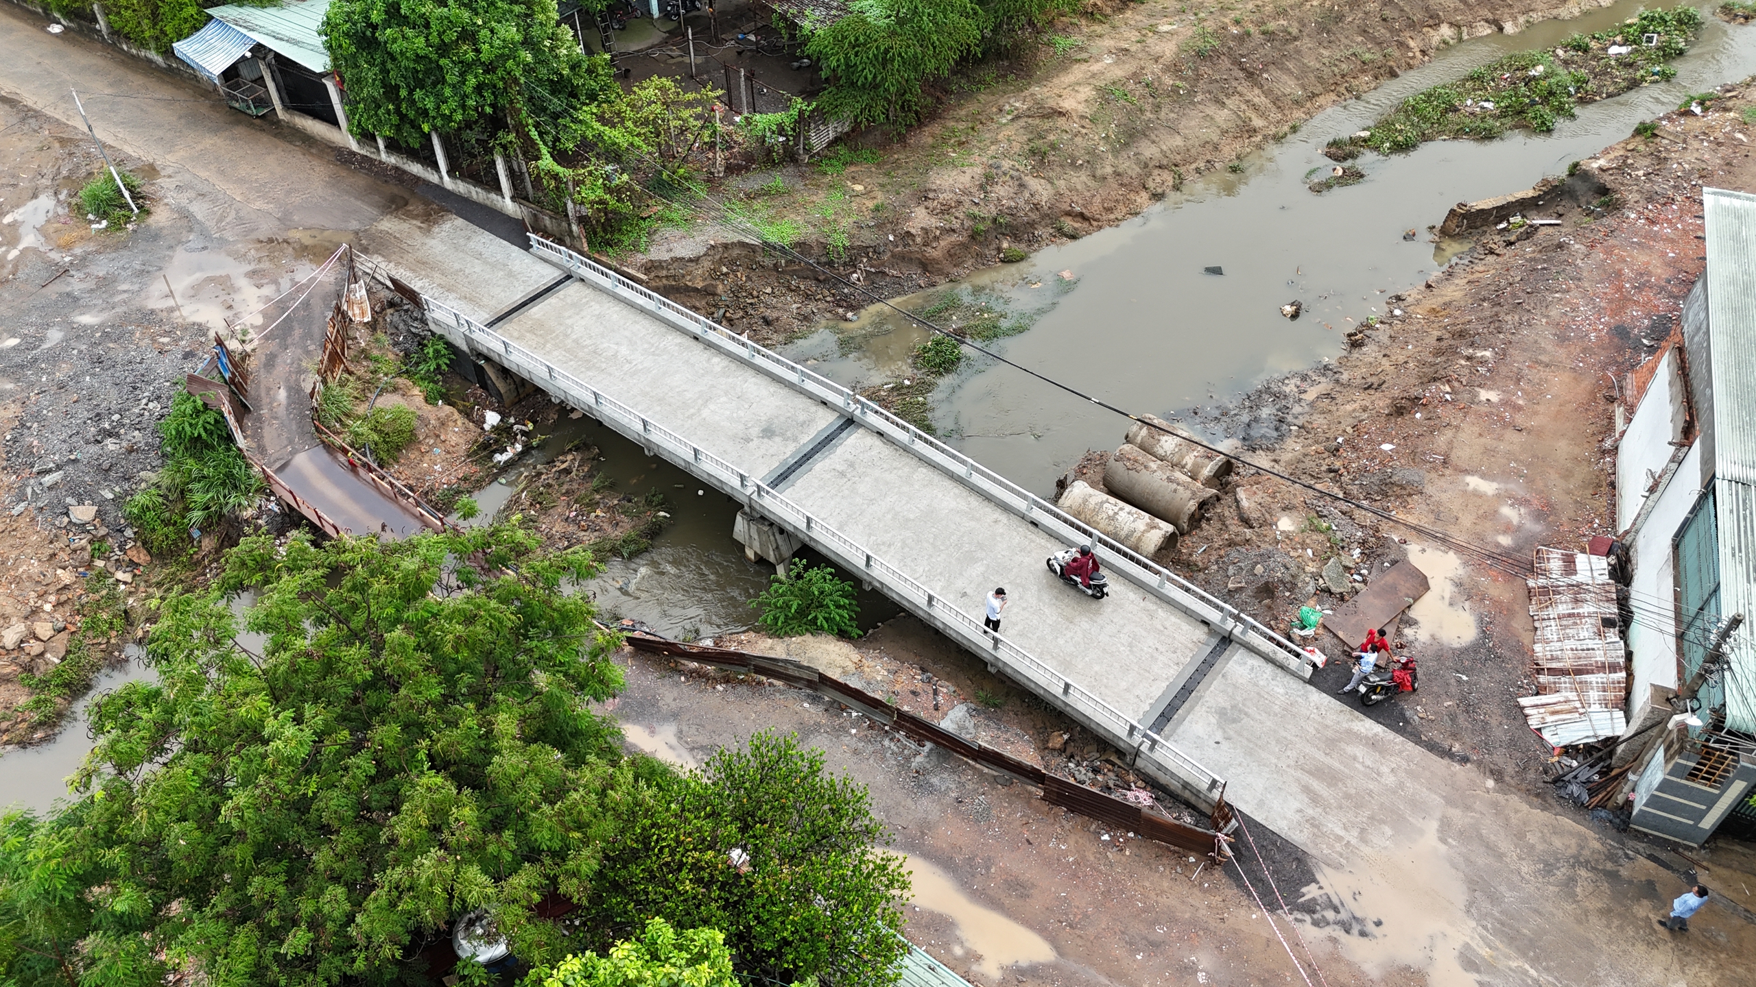
M 1222 780 L 1217 774 L 1184 755 L 1166 743 L 1164 738 L 1141 727 L 1131 717 L 1040 662 L 1024 648 L 989 630 L 975 616 L 948 604 L 908 573 L 873 555 L 866 546 L 824 523 L 760 479 L 658 425 L 602 390 L 548 364 L 536 353 L 444 302 L 434 299 L 423 300 L 428 321 L 435 327 L 450 327 L 462 341 L 467 341 L 472 351 L 493 355 L 495 360 L 506 364 L 506 369 L 562 397 L 574 407 L 590 411 L 601 421 L 616 427 L 643 444 L 662 448 L 669 453 L 669 458 L 685 464 L 697 476 L 716 479 L 729 494 L 743 495 L 745 501 L 759 506 L 762 515 L 790 527 L 825 555 L 834 557 L 843 569 L 859 571 L 862 578 L 882 583 L 892 599 L 918 608 L 929 620 L 962 638 L 966 645 L 989 653 L 990 660 L 996 666 L 1004 666 L 1013 678 L 1033 683 L 1040 694 L 1059 695 L 1059 704 L 1069 713 L 1087 722 L 1087 725 L 1110 734 L 1122 746 L 1133 748 L 1134 764 L 1148 774 L 1168 783 L 1180 783 L 1198 801 L 1212 801 L 1213 794 L 1220 790 Z

